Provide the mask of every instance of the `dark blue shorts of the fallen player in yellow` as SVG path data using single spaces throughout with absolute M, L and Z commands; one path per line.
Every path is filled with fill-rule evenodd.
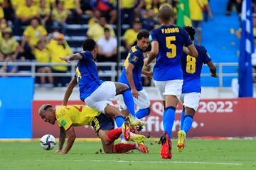
M 92 119 L 91 125 L 95 132 L 99 132 L 99 130 L 112 130 L 114 129 L 114 120 L 110 116 L 100 113 L 100 115 Z

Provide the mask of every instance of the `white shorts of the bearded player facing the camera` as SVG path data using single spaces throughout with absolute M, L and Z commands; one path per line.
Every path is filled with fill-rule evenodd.
M 146 91 L 142 89 L 141 91 L 138 91 L 138 92 L 139 92 L 139 97 L 134 98 L 134 103 L 139 107 L 139 109 L 149 108 L 150 101 Z M 124 103 L 124 97 L 122 96 L 122 94 L 117 95 L 117 104 L 118 104 L 119 111 L 127 110 L 127 106 Z

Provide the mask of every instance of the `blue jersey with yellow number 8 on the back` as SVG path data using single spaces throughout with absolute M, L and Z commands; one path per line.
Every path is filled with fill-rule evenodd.
M 183 52 L 181 57 L 181 65 L 183 70 L 183 86 L 182 93 L 187 94 L 191 92 L 201 93 L 201 80 L 200 74 L 203 64 L 211 61 L 205 47 L 195 45 L 198 50 L 198 57 L 191 57 Z

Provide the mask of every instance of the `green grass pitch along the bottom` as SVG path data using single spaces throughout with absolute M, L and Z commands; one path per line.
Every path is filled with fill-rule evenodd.
M 161 159 L 160 145 L 148 140 L 149 154 L 103 154 L 100 142 L 75 142 L 69 154 L 45 151 L 38 141 L 0 142 L 0 169 L 256 169 L 256 140 L 186 140 L 182 153 L 173 140 L 173 158 Z

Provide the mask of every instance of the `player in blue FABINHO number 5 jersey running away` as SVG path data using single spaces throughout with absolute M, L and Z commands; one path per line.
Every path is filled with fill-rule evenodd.
M 171 159 L 171 129 L 174 125 L 176 106 L 181 96 L 183 84 L 181 54 L 184 50 L 188 55 L 198 57 L 196 47 L 186 30 L 172 25 L 173 20 L 171 6 L 160 6 L 159 22 L 161 27 L 150 32 L 151 52 L 149 52 L 148 60 L 145 62 L 147 66 L 156 57 L 154 82 L 165 101 L 164 135 L 160 138 L 161 157 L 163 159 Z

